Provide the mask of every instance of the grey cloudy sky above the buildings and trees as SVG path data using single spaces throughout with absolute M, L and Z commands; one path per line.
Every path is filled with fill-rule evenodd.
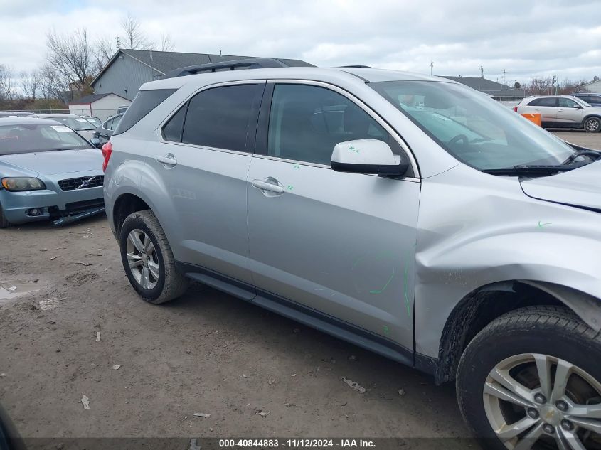
M 601 76 L 600 0 L 0 0 L 0 63 L 29 70 L 45 34 L 113 38 L 130 12 L 175 50 L 300 58 L 316 65 L 479 75 L 506 82 Z M 511 83 L 510 83 L 511 82 Z

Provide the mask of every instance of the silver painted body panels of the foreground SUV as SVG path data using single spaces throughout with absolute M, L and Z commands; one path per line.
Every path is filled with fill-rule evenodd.
M 259 294 L 226 289 L 206 275 L 193 278 L 265 307 L 260 292 L 274 294 L 431 358 L 439 357 L 445 323 L 457 304 L 488 284 L 522 280 L 558 298 L 561 286 L 582 292 L 587 301 L 601 298 L 601 216 L 570 206 L 600 207 L 601 163 L 523 183 L 479 172 L 438 146 L 366 79 L 450 82 L 386 70 L 285 68 L 143 85 L 178 90 L 111 138 L 105 203 L 113 231 L 115 203 L 121 195 L 136 195 L 159 219 L 177 261 Z M 344 92 L 410 149 L 415 176 L 338 173 L 163 141 L 162 125 L 193 94 L 244 80 L 294 80 Z M 166 154 L 178 164 L 156 161 Z M 281 183 L 284 193 L 265 195 L 252 186 L 267 178 Z M 586 311 L 595 304 L 584 304 L 570 306 L 591 324 Z

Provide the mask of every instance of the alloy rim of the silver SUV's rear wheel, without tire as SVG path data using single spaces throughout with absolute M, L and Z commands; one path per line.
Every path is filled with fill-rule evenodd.
M 127 236 L 127 263 L 136 282 L 144 289 L 154 289 L 159 282 L 161 267 L 156 248 L 149 235 L 134 229 Z

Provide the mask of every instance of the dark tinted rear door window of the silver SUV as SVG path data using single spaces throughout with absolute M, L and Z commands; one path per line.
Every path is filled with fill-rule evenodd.
M 257 120 L 259 85 L 213 87 L 191 98 L 181 141 L 216 149 L 247 151 L 247 134 Z

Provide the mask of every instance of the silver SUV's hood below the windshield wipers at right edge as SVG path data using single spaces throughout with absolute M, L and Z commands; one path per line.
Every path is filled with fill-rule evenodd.
M 573 171 L 521 181 L 528 197 L 601 210 L 601 161 Z

